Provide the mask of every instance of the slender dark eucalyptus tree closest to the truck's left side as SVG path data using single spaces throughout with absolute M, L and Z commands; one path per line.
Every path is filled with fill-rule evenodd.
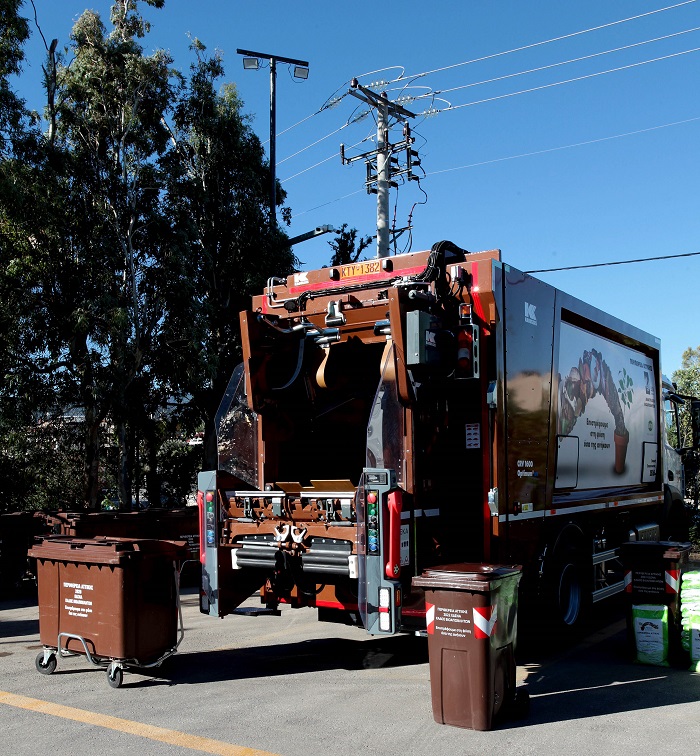
M 158 354 L 189 393 L 205 427 L 205 464 L 215 466 L 214 416 L 241 359 L 239 312 L 297 260 L 282 228 L 270 223 L 270 167 L 236 88 L 217 87 L 221 57 L 198 40 L 192 49 L 197 60 L 180 91 L 173 150 L 164 159 L 171 225 L 185 250 L 173 258 L 181 267 L 171 279 L 177 292 L 170 301 L 179 298 L 181 306 L 166 314 Z M 285 201 L 281 187 L 277 201 Z

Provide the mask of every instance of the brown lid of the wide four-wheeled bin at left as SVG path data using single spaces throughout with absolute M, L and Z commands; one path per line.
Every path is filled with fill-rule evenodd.
M 50 536 L 38 540 L 29 551 L 36 559 L 80 564 L 122 564 L 143 556 L 162 556 L 168 559 L 186 559 L 185 541 L 160 541 L 154 538 L 73 538 Z

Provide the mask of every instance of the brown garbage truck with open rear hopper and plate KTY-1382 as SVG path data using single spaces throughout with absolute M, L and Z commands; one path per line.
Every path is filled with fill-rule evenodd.
M 240 326 L 198 478 L 205 614 L 259 592 L 420 633 L 415 576 L 496 563 L 575 627 L 624 589 L 622 543 L 687 536 L 659 340 L 498 250 L 272 277 Z

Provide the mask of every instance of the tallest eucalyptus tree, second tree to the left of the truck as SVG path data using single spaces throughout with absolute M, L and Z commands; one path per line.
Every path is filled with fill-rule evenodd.
M 118 438 L 120 502 L 131 506 L 131 421 L 149 391 L 149 354 L 165 309 L 158 279 L 170 231 L 158 159 L 168 146 L 163 122 L 174 95 L 172 60 L 162 50 L 144 54 L 140 40 L 149 27 L 138 5 L 115 2 L 109 32 L 97 13 L 80 16 L 49 114 L 65 214 L 49 255 L 57 269 L 44 289 L 59 290 L 48 313 L 52 351 L 84 411 L 85 498 L 93 506 L 99 428 L 107 417 Z

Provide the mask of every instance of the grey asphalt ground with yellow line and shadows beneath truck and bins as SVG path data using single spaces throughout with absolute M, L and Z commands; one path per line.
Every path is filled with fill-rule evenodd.
M 199 613 L 179 653 L 119 689 L 83 657 L 40 675 L 38 607 L 0 601 L 0 754 L 686 754 L 700 750 L 700 675 L 628 658 L 620 605 L 575 645 L 532 625 L 518 650 L 530 712 L 490 732 L 439 725 L 424 639 L 316 621 Z M 249 602 L 257 605 L 255 600 Z

